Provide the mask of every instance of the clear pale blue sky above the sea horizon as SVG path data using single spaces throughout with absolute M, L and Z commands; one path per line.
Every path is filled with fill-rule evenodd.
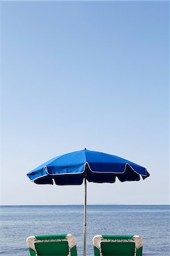
M 26 174 L 71 151 L 147 168 L 89 204 L 169 204 L 169 2 L 1 2 L 2 204 L 84 204 Z

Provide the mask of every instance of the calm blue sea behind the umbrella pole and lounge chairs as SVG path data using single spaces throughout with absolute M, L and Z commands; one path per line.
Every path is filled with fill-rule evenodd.
M 82 206 L 0 207 L 0 255 L 28 256 L 26 238 L 40 234 L 71 233 L 83 250 Z M 90 205 L 87 207 L 87 255 L 93 255 L 96 234 L 138 234 L 144 239 L 143 255 L 169 256 L 169 207 Z

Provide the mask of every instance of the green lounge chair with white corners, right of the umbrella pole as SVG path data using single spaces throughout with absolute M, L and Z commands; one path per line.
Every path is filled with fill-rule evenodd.
M 143 240 L 139 236 L 93 237 L 95 256 L 142 256 Z

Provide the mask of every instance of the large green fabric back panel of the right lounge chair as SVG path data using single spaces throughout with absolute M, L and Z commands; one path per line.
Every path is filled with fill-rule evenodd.
M 105 256 L 133 256 L 135 243 L 109 243 L 101 242 L 102 255 Z

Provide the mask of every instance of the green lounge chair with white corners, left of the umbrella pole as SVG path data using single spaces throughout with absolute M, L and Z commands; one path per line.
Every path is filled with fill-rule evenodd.
M 71 234 L 27 238 L 31 256 L 77 256 L 76 239 Z

